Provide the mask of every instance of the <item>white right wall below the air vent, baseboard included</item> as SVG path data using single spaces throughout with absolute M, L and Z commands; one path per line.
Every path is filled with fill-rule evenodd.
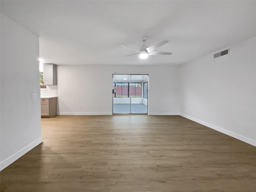
M 256 146 L 256 37 L 229 48 L 180 67 L 180 113 Z

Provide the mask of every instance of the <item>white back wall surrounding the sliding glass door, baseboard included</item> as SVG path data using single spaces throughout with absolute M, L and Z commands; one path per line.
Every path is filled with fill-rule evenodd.
M 112 74 L 149 74 L 148 114 L 179 114 L 178 66 L 58 65 L 58 114 L 112 114 Z M 81 107 L 81 109 L 80 109 Z

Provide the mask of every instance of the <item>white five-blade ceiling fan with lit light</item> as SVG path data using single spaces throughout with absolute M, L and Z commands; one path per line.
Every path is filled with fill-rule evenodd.
M 147 58 L 149 55 L 171 55 L 172 54 L 170 52 L 155 51 L 156 48 L 158 48 L 158 47 L 168 43 L 169 42 L 168 40 L 164 40 L 164 41 L 156 43 L 156 44 L 154 44 L 152 46 L 147 47 L 145 45 L 145 42 L 146 42 L 147 39 L 148 38 L 146 36 L 143 36 L 141 38 L 141 40 L 143 42 L 143 45 L 141 46 L 140 50 L 132 48 L 132 47 L 129 47 L 129 46 L 126 46 L 126 45 L 121 45 L 121 46 L 127 47 L 127 48 L 131 48 L 133 50 L 136 50 L 136 51 L 140 52 L 140 53 L 131 54 L 131 55 L 140 55 L 140 58 L 142 58 L 142 59 Z M 125 55 L 125 56 L 121 56 L 121 57 L 126 57 L 126 56 L 131 56 L 131 55 Z

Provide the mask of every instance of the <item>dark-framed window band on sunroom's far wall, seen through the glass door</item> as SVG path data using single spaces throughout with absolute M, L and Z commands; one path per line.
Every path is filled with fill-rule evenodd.
M 114 83 L 114 97 L 141 97 L 141 85 L 142 83 Z

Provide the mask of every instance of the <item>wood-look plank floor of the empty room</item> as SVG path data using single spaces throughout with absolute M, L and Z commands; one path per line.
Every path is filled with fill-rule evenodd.
M 255 192 L 256 147 L 181 116 L 56 116 L 1 192 Z

